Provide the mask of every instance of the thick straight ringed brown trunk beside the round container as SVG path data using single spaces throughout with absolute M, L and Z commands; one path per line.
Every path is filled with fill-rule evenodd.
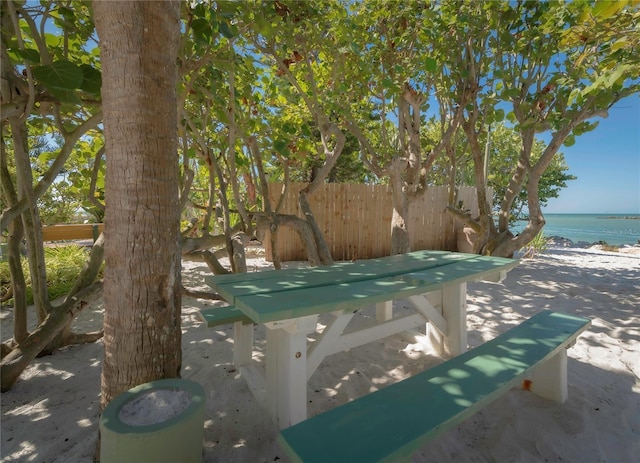
M 101 406 L 180 375 L 180 2 L 93 3 L 106 142 Z

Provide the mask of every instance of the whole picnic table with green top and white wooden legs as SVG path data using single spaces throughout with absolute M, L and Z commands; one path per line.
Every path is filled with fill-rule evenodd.
M 233 363 L 283 429 L 307 418 L 307 381 L 329 355 L 406 331 L 422 333 L 443 354 L 466 351 L 467 282 L 501 281 L 517 264 L 498 257 L 416 251 L 212 276 L 207 283 L 229 306 L 224 312 L 206 309 L 201 317 L 208 326 L 233 322 Z M 412 313 L 394 310 L 398 299 Z M 375 319 L 353 329 L 354 314 L 371 305 Z M 318 330 L 320 315 L 325 327 Z M 266 355 L 255 361 L 254 324 L 266 327 Z

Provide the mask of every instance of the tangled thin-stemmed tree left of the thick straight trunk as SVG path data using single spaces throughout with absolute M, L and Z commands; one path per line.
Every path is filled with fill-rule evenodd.
M 101 72 L 87 3 L 3 1 L 1 22 L 2 140 L 0 230 L 7 233 L 8 263 L 14 300 L 14 338 L 3 345 L 2 390 L 41 352 L 97 339 L 101 333 L 75 335 L 70 322 L 86 305 L 83 298 L 102 261 L 102 240 L 85 271 L 62 302 L 49 300 L 39 203 L 68 160 L 84 148 L 82 139 L 102 120 Z M 34 158 L 42 137 L 56 146 Z M 94 145 L 95 151 L 99 144 Z M 25 279 L 20 266 L 26 241 L 38 327 L 29 332 Z M 6 354 L 6 355 L 4 355 Z

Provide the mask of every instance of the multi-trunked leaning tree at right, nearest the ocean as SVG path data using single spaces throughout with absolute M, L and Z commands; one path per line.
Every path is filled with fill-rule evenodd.
M 458 63 L 454 93 L 459 100 L 473 95 L 462 127 L 474 163 L 480 216 L 450 210 L 478 233 L 478 251 L 509 256 L 531 241 L 544 226 L 541 179 L 561 146 L 593 130 L 597 117 L 606 117 L 618 101 L 640 90 L 638 48 L 626 46 L 638 41 L 638 8 L 615 2 L 614 12 L 606 3 L 443 3 L 443 16 L 457 20 L 456 43 L 467 50 Z M 488 127 L 505 119 L 519 133 L 519 154 L 496 224 L 483 188 L 481 140 Z M 534 158 L 541 134 L 549 141 Z M 529 221 L 514 236 L 511 211 L 523 191 Z

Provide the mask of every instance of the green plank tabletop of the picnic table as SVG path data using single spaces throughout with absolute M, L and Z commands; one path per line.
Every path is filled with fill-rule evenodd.
M 416 251 L 318 267 L 220 275 L 206 281 L 255 323 L 266 323 L 424 293 L 515 265 L 513 259 Z

